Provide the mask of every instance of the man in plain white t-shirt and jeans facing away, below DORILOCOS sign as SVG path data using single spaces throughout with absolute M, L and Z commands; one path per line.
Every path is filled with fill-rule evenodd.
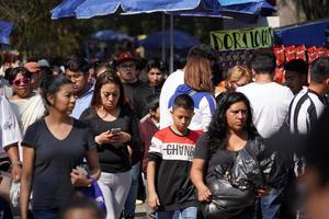
M 287 115 L 294 97 L 292 91 L 273 81 L 276 59 L 271 50 L 260 50 L 251 58 L 254 82 L 237 89 L 250 101 L 253 124 L 263 138 L 270 138 L 279 131 Z M 263 218 L 276 218 L 281 207 L 281 189 L 271 188 L 270 194 L 261 199 Z

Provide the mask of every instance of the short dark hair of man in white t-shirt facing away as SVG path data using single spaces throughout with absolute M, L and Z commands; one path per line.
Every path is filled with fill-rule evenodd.
M 257 73 L 272 73 L 276 68 L 276 58 L 272 50 L 262 49 L 252 55 L 251 69 Z

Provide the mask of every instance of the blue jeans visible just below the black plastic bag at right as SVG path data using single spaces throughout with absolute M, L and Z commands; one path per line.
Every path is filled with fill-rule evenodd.
M 271 188 L 269 195 L 261 198 L 261 209 L 263 219 L 277 218 L 277 212 L 281 207 L 281 195 L 282 189 Z

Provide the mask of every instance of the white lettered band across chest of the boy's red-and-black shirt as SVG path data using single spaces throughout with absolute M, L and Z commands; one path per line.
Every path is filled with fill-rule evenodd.
M 192 161 L 194 145 L 164 143 L 162 146 L 162 160 Z

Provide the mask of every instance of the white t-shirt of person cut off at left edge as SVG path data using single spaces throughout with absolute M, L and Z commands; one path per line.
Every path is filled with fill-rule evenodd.
M 0 158 L 7 157 L 3 148 L 22 140 L 18 119 L 8 100 L 0 95 Z

